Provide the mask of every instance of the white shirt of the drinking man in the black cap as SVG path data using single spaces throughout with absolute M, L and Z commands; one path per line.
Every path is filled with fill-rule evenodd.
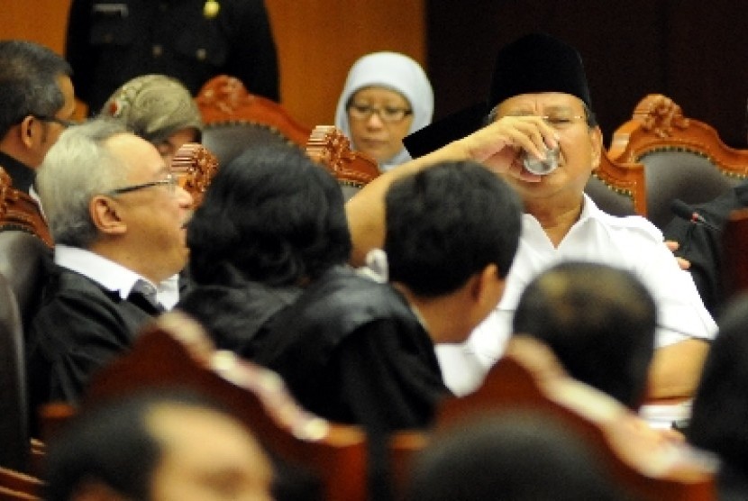
M 605 263 L 628 269 L 641 279 L 658 308 L 655 348 L 690 338 L 713 339 L 716 323 L 689 272 L 680 269 L 662 241 L 660 230 L 643 217 L 606 214 L 586 195 L 579 221 L 558 247 L 553 247 L 534 216 L 523 214 L 519 249 L 497 308 L 463 344 L 436 347 L 447 387 L 458 396 L 479 387 L 504 351 L 525 286 L 538 273 L 564 260 Z

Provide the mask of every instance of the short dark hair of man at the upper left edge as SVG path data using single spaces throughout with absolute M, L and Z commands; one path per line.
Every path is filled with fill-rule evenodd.
M 52 50 L 32 41 L 0 41 L 0 139 L 30 114 L 54 116 L 65 104 L 57 77 L 72 68 Z

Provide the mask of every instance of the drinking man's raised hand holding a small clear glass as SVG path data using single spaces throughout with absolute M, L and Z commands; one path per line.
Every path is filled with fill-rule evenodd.
M 558 146 L 558 136 L 538 116 L 505 116 L 461 140 L 474 159 L 497 173 L 538 182 L 541 176 L 527 171 L 520 160 L 523 151 L 538 159 L 545 158 L 547 148 Z

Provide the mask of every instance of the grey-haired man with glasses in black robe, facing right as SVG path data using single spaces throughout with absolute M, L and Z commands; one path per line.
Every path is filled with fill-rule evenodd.
M 150 142 L 106 119 L 63 132 L 37 185 L 55 263 L 27 338 L 32 405 L 75 403 L 177 303 L 193 200 Z

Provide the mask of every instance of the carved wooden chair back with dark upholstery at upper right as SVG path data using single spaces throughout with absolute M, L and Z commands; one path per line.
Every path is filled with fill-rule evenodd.
M 647 217 L 659 228 L 670 204 L 707 202 L 748 177 L 748 150 L 729 148 L 713 127 L 683 115 L 669 97 L 651 94 L 613 135 L 608 154 L 644 165 Z

